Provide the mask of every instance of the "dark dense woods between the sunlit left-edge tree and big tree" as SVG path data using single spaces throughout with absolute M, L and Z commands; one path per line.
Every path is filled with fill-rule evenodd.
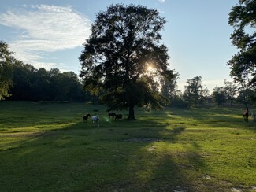
M 86 96 L 74 72 L 35 69 L 22 61 L 13 64 L 13 87 L 9 92 L 9 100 L 23 101 L 82 101 Z

